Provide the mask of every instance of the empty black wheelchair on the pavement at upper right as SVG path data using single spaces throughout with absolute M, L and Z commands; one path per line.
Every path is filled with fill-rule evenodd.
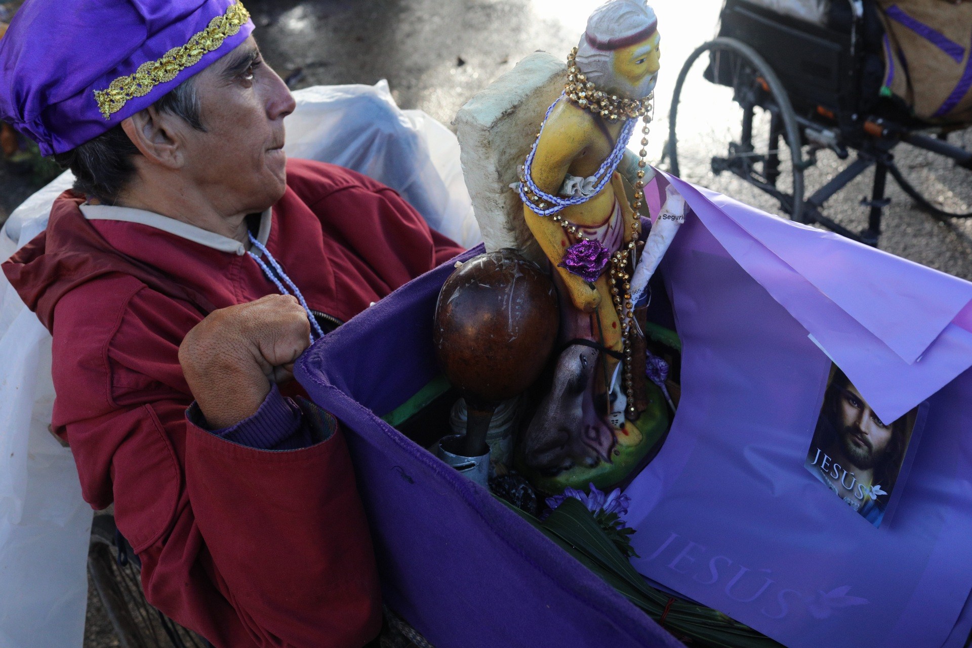
M 872 0 L 833 0 L 824 24 L 726 0 L 717 37 L 677 78 L 672 173 L 871 246 L 890 202 L 888 174 L 931 216 L 972 216 L 972 153 L 960 146 L 969 124 L 922 122 L 884 96 L 884 38 Z M 866 224 L 854 231 L 828 218 L 824 204 L 872 167 Z

